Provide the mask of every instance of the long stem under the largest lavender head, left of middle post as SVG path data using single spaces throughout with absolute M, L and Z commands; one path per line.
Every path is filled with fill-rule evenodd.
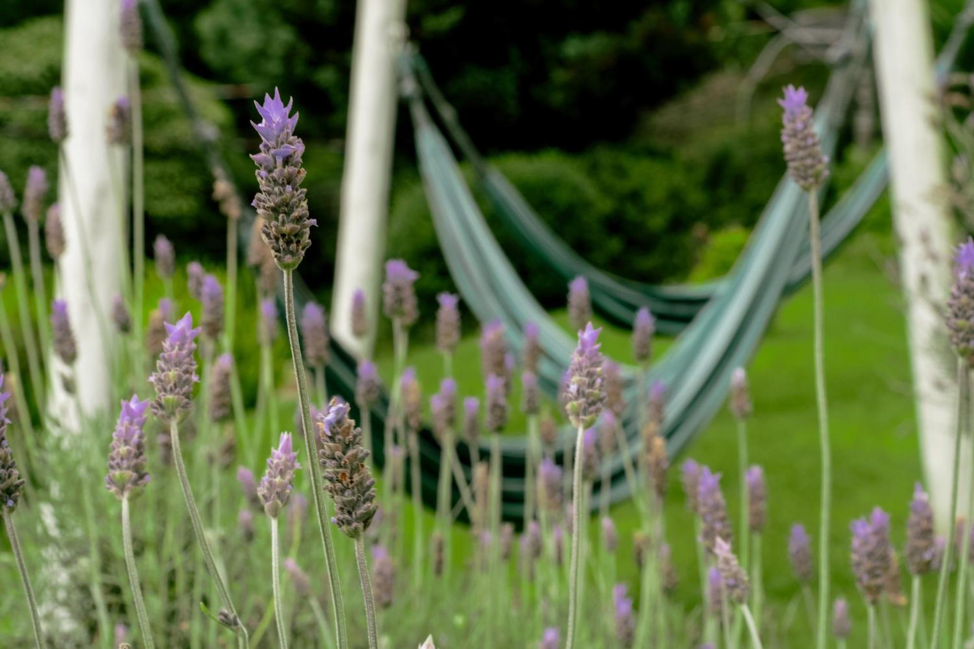
M 301 358 L 301 345 L 298 342 L 297 315 L 294 312 L 294 276 L 292 270 L 283 271 L 284 282 L 284 317 L 287 321 L 287 341 L 291 347 L 291 363 L 294 367 L 294 377 L 298 384 L 298 404 L 301 410 L 301 425 L 304 434 L 305 452 L 308 455 L 308 465 L 311 471 L 312 501 L 318 514 L 318 531 L 321 534 L 321 545 L 324 548 L 324 567 L 328 575 L 328 589 L 331 596 L 332 616 L 335 621 L 338 649 L 349 648 L 349 634 L 345 625 L 345 600 L 342 598 L 342 586 L 338 577 L 338 562 L 335 560 L 335 548 L 331 542 L 331 522 L 325 508 L 324 491 L 321 486 L 321 466 L 318 464 L 318 436 L 311 421 L 311 400 L 308 396 L 308 380 L 305 374 L 304 361 Z

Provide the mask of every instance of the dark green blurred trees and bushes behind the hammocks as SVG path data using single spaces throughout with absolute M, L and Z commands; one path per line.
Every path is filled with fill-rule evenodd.
M 938 41 L 961 4 L 932 3 Z M 18 187 L 29 164 L 54 171 L 45 115 L 59 79 L 61 6 L 56 0 L 0 6 L 0 169 Z M 245 155 L 256 149 L 250 100 L 276 86 L 295 96 L 318 218 L 314 253 L 302 270 L 326 299 L 355 3 L 168 0 L 164 8 L 191 88 L 221 133 L 219 145 L 245 195 L 254 190 Z M 783 15 L 809 9 L 842 6 L 775 3 Z M 804 83 L 813 99 L 821 94 L 826 66 L 801 48 L 786 48 L 758 87 L 748 119 L 738 118 L 738 89 L 774 33 L 761 16 L 760 6 L 735 0 L 563 0 L 556 7 L 540 0 L 410 0 L 407 22 L 473 141 L 543 218 L 597 266 L 663 282 L 727 269 L 782 172 L 774 96 L 786 82 Z M 215 263 L 223 223 L 209 196 L 208 170 L 147 40 L 147 242 L 165 231 L 183 262 Z M 968 48 L 959 67 L 971 62 Z M 519 253 L 513 235 L 479 200 L 532 290 L 547 306 L 561 304 L 563 283 Z M 420 265 L 421 297 L 451 288 L 404 110 L 391 214 L 389 253 Z

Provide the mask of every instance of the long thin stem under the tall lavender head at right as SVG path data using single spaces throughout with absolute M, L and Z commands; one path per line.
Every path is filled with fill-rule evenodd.
M 818 625 L 815 646 L 825 649 L 829 614 L 829 516 L 832 512 L 832 450 L 829 446 L 829 405 L 825 392 L 824 315 L 822 298 L 822 242 L 818 223 L 818 194 L 808 192 L 808 228 L 811 239 L 811 289 L 814 305 L 815 402 L 822 453 L 822 493 L 818 537 Z M 743 480 L 743 475 L 741 476 Z M 744 529 L 747 529 L 745 526 Z

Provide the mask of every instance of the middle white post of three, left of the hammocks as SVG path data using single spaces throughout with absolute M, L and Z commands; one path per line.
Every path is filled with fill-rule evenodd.
M 379 313 L 393 167 L 395 65 L 405 12 L 405 0 L 359 0 L 356 11 L 331 332 L 357 356 L 370 352 Z M 352 334 L 356 288 L 365 292 L 368 307 L 370 333 L 365 341 Z

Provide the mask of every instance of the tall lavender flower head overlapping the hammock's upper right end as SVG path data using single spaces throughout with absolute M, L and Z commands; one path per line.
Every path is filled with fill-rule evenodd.
M 778 105 L 784 109 L 781 115 L 781 143 L 784 145 L 788 175 L 806 192 L 822 184 L 828 175 L 829 159 L 822 155 L 822 147 L 815 134 L 808 94 L 804 88 L 789 85 Z

